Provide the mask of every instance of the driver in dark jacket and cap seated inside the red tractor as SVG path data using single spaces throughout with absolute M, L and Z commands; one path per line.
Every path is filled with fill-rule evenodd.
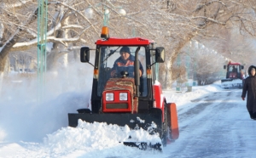
M 129 73 L 128 77 L 134 77 L 134 61 L 135 57 L 131 55 L 130 48 L 123 47 L 120 49 L 120 57 L 116 59 L 113 63 L 113 68 L 111 71 L 111 76 L 120 76 L 121 71 L 127 71 Z M 139 73 L 140 76 L 143 75 L 143 65 L 139 62 Z

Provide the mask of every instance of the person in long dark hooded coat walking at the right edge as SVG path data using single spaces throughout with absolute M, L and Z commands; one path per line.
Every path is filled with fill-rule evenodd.
M 245 79 L 241 99 L 245 100 L 247 94 L 247 110 L 253 120 L 256 120 L 256 67 L 251 65 L 248 69 L 249 76 Z

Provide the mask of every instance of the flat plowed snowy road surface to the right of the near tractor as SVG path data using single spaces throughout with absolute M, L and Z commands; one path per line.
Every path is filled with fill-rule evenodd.
M 180 138 L 170 157 L 256 157 L 256 121 L 249 119 L 241 90 L 210 93 L 179 114 Z

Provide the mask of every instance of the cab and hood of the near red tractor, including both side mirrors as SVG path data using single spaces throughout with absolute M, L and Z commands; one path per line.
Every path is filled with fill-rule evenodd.
M 102 31 L 104 34 L 104 31 Z M 108 31 L 107 31 L 108 32 Z M 81 62 L 90 63 L 90 51 L 95 50 L 95 64 L 93 86 L 91 94 L 91 111 L 99 112 L 131 112 L 138 113 L 148 111 L 154 105 L 155 74 L 158 70 L 154 64 L 165 61 L 165 49 L 154 48 L 154 41 L 135 37 L 135 38 L 113 38 L 96 41 L 96 49 L 83 47 L 80 50 Z M 123 71 L 114 70 L 114 63 L 121 59 L 122 48 L 129 48 L 132 59 L 123 65 Z M 114 75 L 113 75 L 114 74 Z M 131 84 L 129 90 L 128 84 Z M 122 95 L 131 96 L 131 104 L 135 109 L 127 110 L 131 107 L 124 100 L 119 100 L 119 93 L 128 89 L 129 93 L 122 92 Z M 112 90 L 112 91 L 111 91 Z M 105 95 L 103 95 L 105 94 Z M 108 100 L 106 99 L 113 99 Z M 136 99 L 136 100 L 135 100 Z M 129 99 L 127 99 L 129 100 Z M 109 104 L 104 104 L 108 102 Z M 113 105 L 114 104 L 114 105 Z M 137 106 L 137 104 L 140 104 Z M 108 106 L 109 105 L 109 106 Z M 116 107 L 112 108 L 112 107 Z M 106 110 L 111 109 L 111 110 Z

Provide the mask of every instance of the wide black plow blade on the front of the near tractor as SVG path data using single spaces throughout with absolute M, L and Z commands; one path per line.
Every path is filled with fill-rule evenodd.
M 150 110 L 150 113 L 145 114 L 131 114 L 131 113 L 104 113 L 104 114 L 68 114 L 68 126 L 77 127 L 78 121 L 81 119 L 86 122 L 106 122 L 107 124 L 116 124 L 120 127 L 125 127 L 127 125 L 131 129 L 137 129 L 142 127 L 145 131 L 148 130 L 148 127 L 151 127 L 152 123 L 157 125 L 150 134 L 159 133 L 161 138 L 162 136 L 162 116 L 160 109 Z M 141 150 L 147 150 L 149 148 L 155 150 L 161 150 L 161 142 L 157 144 L 148 144 L 146 142 L 120 142 L 126 146 L 137 147 Z

